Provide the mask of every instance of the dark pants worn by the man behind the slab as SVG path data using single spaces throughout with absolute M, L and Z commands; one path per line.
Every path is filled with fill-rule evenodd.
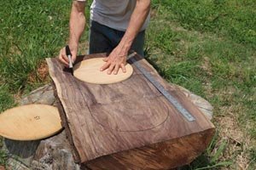
M 117 31 L 91 20 L 89 54 L 111 53 L 113 48 L 119 44 L 124 34 L 125 31 Z M 142 56 L 144 56 L 144 40 L 145 31 L 140 31 L 131 45 L 131 49 Z

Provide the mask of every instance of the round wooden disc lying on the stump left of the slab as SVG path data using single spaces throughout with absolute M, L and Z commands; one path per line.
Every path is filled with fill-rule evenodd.
M 8 139 L 44 139 L 61 128 L 59 111 L 51 105 L 22 105 L 0 114 L 0 135 Z

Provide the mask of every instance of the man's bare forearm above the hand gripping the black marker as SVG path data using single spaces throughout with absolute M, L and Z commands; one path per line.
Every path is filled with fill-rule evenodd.
M 84 2 L 73 1 L 70 21 L 69 21 L 69 46 L 71 48 L 78 48 L 79 39 L 84 31 L 85 16 L 84 16 Z

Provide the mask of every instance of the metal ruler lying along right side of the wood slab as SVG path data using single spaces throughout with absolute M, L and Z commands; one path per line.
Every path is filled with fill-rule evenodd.
M 132 53 L 128 56 L 128 59 L 131 60 L 131 62 L 137 66 L 137 69 L 139 71 L 141 71 L 143 73 L 143 75 L 148 79 L 149 82 L 151 82 L 155 88 L 157 88 L 161 94 L 163 94 L 166 99 L 168 99 L 170 101 L 170 103 L 172 103 L 172 105 L 177 109 L 177 111 L 179 111 L 179 113 L 181 113 L 189 122 L 193 122 L 195 121 L 195 117 L 192 116 L 189 111 L 187 111 L 183 105 L 181 105 L 177 99 L 175 99 L 172 94 L 170 94 L 166 88 L 164 88 L 160 82 L 157 82 L 154 77 L 148 72 L 146 71 L 142 65 L 140 65 L 136 59 L 134 59 L 134 56 L 136 55 L 136 53 Z

